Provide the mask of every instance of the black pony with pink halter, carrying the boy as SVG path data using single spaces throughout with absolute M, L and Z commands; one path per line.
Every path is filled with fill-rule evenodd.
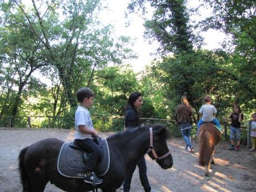
M 107 137 L 110 150 L 109 171 L 99 185 L 102 192 L 114 192 L 136 161 L 148 152 L 163 169 L 173 166 L 166 139 L 170 137 L 164 125 L 137 127 Z M 24 192 L 43 192 L 48 181 L 65 191 L 90 191 L 92 185 L 83 179 L 67 178 L 58 173 L 57 160 L 63 141 L 45 139 L 25 147 L 19 154 L 19 172 Z

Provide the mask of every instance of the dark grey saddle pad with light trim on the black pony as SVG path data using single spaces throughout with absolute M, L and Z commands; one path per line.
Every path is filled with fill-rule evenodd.
M 101 140 L 102 161 L 96 166 L 96 173 L 103 176 L 109 170 L 110 155 L 107 140 Z M 68 178 L 85 178 L 85 164 L 83 163 L 84 152 L 70 147 L 69 142 L 63 143 L 58 155 L 58 172 Z

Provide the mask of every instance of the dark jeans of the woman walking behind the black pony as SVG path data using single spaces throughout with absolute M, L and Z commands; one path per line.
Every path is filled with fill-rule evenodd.
M 147 165 L 144 156 L 142 156 L 141 159 L 137 161 L 137 166 L 139 168 L 141 185 L 144 187 L 146 192 L 150 192 L 151 187 L 149 185 L 149 180 L 147 180 Z M 124 183 L 122 184 L 122 190 L 124 190 L 124 192 L 130 191 L 132 174 L 134 173 L 135 169 L 136 165 L 129 170 L 129 173 L 125 177 Z

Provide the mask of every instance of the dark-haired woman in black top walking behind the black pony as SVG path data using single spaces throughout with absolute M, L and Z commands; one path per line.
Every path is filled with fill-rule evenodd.
M 125 129 L 133 129 L 141 125 L 141 120 L 139 117 L 139 109 L 143 104 L 142 95 L 139 92 L 132 92 L 127 100 L 127 104 L 125 106 Z M 151 190 L 149 180 L 147 179 L 147 166 L 145 157 L 141 157 L 141 159 L 137 162 L 137 166 L 139 168 L 140 182 L 144 187 L 146 192 L 155 192 Z M 129 173 L 127 173 L 124 183 L 122 184 L 123 191 L 129 192 L 131 188 L 131 179 L 132 174 L 134 173 L 136 166 L 130 168 Z

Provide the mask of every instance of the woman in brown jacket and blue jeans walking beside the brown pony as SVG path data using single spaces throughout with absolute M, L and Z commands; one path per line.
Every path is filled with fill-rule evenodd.
M 175 112 L 175 120 L 177 124 L 180 125 L 181 135 L 183 136 L 184 141 L 186 142 L 185 150 L 189 150 L 190 152 L 194 151 L 194 147 L 191 143 L 190 131 L 192 118 L 197 123 L 193 113 L 192 107 L 189 105 L 188 98 L 183 95 L 181 97 L 181 104 L 177 106 Z

